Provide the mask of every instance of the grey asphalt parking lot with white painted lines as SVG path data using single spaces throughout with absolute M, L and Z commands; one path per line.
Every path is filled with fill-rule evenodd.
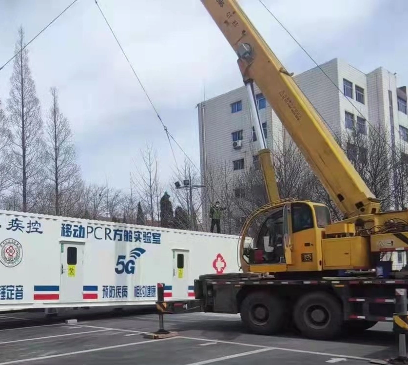
M 397 355 L 389 324 L 331 342 L 291 333 L 253 335 L 242 328 L 239 316 L 195 313 L 167 315 L 166 329 L 178 335 L 152 340 L 144 334 L 157 330 L 157 315 L 146 311 L 77 311 L 65 318 L 78 318 L 78 323 L 44 320 L 41 313 L 0 314 L 0 365 L 234 365 L 244 361 L 361 365 Z

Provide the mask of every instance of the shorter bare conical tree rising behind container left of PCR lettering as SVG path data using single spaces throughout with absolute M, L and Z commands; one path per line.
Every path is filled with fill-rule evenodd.
M 80 173 L 69 121 L 59 109 L 58 91 L 53 87 L 50 93 L 51 107 L 45 126 L 47 170 L 48 178 L 54 187 L 55 214 L 59 215 L 62 212 L 61 206 L 66 204 L 63 200 L 68 202 L 72 199 Z

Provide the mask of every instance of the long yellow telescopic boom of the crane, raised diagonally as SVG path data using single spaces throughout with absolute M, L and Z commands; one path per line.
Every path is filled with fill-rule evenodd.
M 379 212 L 379 200 L 236 0 L 201 2 L 238 55 L 244 82 L 258 85 L 338 208 L 347 217 Z

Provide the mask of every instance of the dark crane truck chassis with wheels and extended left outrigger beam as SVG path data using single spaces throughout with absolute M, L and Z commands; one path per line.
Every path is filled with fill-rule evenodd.
M 246 273 L 202 275 L 194 281 L 194 300 L 164 301 L 157 288 L 159 313 L 240 313 L 251 332 L 277 334 L 295 327 L 305 337 L 331 339 L 393 322 L 396 289 L 407 279 L 323 277 L 276 280 Z

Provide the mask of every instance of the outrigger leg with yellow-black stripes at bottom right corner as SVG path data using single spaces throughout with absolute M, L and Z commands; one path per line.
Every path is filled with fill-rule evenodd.
M 394 332 L 398 333 L 398 357 L 385 361 L 372 360 L 373 364 L 408 365 L 406 335 L 408 333 L 407 289 L 395 289 Z

